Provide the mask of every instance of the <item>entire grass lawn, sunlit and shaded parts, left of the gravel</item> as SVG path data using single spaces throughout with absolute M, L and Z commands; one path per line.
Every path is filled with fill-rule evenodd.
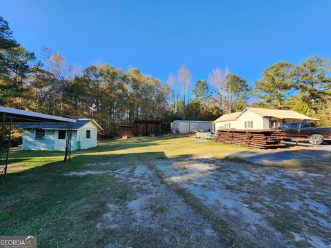
M 130 167 L 134 161 L 148 163 L 181 156 L 222 158 L 227 152 L 241 150 L 245 148 L 193 142 L 181 136 L 103 141 L 92 149 L 72 152 L 67 162 L 62 161 L 63 152 L 12 149 L 8 182 L 0 185 L 0 235 L 37 235 L 39 247 L 103 247 L 123 235 L 97 229 L 107 204 L 110 200 L 123 203 L 137 189 L 109 174 L 63 174 L 84 171 L 87 163 L 113 162 L 110 169 L 115 170 Z M 88 169 L 104 168 L 95 165 Z

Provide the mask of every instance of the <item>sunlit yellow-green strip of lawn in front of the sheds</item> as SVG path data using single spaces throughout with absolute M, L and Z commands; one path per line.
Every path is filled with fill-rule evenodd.
M 108 160 L 110 155 L 138 153 L 142 156 L 150 157 L 150 153 L 162 152 L 165 158 L 176 156 L 200 156 L 208 155 L 214 158 L 223 158 L 227 152 L 237 152 L 247 150 L 244 147 L 235 145 L 223 145 L 214 142 L 193 142 L 192 138 L 182 136 L 163 136 L 161 138 L 143 137 L 130 138 L 128 140 L 100 141 L 97 147 L 72 152 L 72 163 L 84 161 L 94 162 L 95 156 L 98 161 Z M 34 168 L 41 165 L 49 165 L 63 161 L 63 152 L 49 151 L 21 151 L 20 148 L 10 150 L 10 163 L 12 167 Z M 83 156 L 82 158 L 79 158 Z M 14 165 L 14 166 L 13 166 Z M 14 172 L 14 169 L 9 172 Z

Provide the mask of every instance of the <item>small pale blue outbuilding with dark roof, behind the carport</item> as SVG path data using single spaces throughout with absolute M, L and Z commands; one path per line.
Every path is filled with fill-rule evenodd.
M 64 151 L 66 149 L 66 123 L 22 123 L 23 150 Z M 72 150 L 97 146 L 97 132 L 102 130 L 93 119 L 77 119 L 72 124 Z

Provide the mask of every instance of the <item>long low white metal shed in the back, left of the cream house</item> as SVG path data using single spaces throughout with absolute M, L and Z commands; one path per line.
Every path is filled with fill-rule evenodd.
M 174 120 L 171 123 L 171 131 L 179 134 L 188 134 L 193 130 L 212 130 L 210 121 L 183 121 Z

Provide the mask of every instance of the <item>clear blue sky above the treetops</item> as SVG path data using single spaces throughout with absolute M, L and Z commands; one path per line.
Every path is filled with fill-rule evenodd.
M 14 37 L 41 58 L 139 68 L 167 81 L 182 63 L 193 81 L 213 68 L 248 79 L 264 68 L 331 54 L 331 1 L 1 1 Z

